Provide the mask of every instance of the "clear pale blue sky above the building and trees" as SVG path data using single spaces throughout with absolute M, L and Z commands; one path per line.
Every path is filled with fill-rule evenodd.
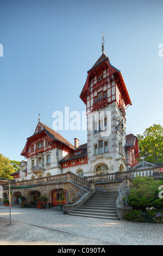
M 132 106 L 127 134 L 163 126 L 163 1 L 0 0 L 0 153 L 20 156 L 38 122 L 52 128 L 54 111 L 86 111 L 79 95 L 87 71 L 105 53 L 121 70 Z M 1 55 L 1 51 L 0 51 Z M 86 143 L 86 131 L 58 131 Z

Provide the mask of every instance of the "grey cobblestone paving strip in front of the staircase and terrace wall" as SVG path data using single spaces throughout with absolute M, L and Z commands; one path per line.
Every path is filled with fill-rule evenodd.
M 0 217 L 9 219 L 9 206 L 0 206 Z M 114 245 L 162 245 L 163 225 L 63 215 L 54 209 L 12 206 L 11 222 L 18 221 L 97 239 Z

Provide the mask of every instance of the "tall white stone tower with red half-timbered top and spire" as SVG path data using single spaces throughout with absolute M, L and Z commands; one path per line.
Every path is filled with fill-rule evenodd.
M 104 38 L 102 55 L 87 71 L 80 99 L 87 113 L 88 174 L 126 170 L 126 108 L 131 100 L 121 71 L 104 53 Z

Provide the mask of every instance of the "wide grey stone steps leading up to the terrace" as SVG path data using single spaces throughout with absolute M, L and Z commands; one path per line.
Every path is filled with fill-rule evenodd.
M 116 199 L 118 192 L 95 192 L 83 205 L 70 215 L 118 220 Z

